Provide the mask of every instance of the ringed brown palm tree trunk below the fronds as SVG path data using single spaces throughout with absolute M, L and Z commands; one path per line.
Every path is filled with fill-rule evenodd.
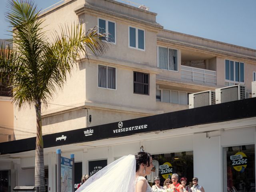
M 45 192 L 44 184 L 44 142 L 42 136 L 41 101 L 36 100 L 36 157 L 35 157 L 35 186 L 40 192 Z

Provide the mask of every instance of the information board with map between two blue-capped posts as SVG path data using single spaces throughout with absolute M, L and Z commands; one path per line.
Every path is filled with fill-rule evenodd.
M 61 192 L 72 192 L 72 164 L 71 160 L 61 157 Z

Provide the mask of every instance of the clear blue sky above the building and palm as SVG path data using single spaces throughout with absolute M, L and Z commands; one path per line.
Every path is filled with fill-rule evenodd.
M 10 38 L 0 0 L 0 39 Z M 118 0 L 122 2 L 122 0 Z M 164 29 L 256 49 L 256 0 L 131 0 L 157 13 Z M 34 0 L 45 9 L 59 0 Z

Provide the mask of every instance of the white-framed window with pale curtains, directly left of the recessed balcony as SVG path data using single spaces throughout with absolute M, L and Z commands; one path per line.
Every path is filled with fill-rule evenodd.
M 158 67 L 178 71 L 178 50 L 158 46 Z

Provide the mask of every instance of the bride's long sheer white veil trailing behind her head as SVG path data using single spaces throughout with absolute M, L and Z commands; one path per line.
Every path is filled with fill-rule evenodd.
M 91 176 L 76 192 L 134 192 L 135 172 L 135 156 L 123 156 Z

